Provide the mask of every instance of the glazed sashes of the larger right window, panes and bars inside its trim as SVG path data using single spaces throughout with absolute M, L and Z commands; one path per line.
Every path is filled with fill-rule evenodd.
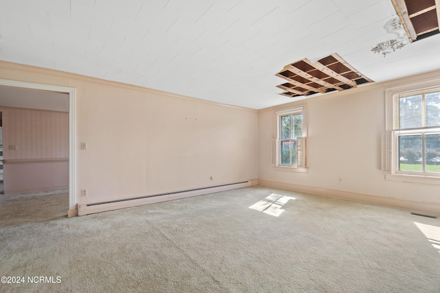
M 440 89 L 393 99 L 395 173 L 440 176 Z

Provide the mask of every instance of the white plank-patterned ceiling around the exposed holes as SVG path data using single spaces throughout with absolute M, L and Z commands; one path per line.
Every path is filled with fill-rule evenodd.
M 440 69 L 440 34 L 388 54 L 391 0 L 0 0 L 0 60 L 248 108 L 289 63 L 338 53 L 375 82 Z M 368 86 L 368 85 L 365 85 Z

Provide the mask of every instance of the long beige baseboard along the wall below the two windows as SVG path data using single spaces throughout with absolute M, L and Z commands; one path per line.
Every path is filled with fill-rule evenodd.
M 396 207 L 399 209 L 407 209 L 409 211 L 421 211 L 433 215 L 440 215 L 440 204 L 433 202 L 416 202 L 412 200 L 401 200 L 396 198 L 384 198 L 382 196 L 369 196 L 366 194 L 356 194 L 348 191 L 338 191 L 325 189 L 320 187 L 309 187 L 304 185 L 294 185 L 290 183 L 281 183 L 275 181 L 261 180 L 259 184 L 267 187 L 276 187 L 291 191 L 300 191 L 307 194 L 315 194 L 318 196 L 328 196 L 331 198 L 340 198 L 344 200 L 353 200 L 356 202 L 365 202 L 369 204 L 377 204 L 386 207 Z

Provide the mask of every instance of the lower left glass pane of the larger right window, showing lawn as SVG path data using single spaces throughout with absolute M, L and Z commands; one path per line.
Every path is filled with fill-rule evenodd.
M 421 134 L 399 136 L 399 170 L 422 172 Z

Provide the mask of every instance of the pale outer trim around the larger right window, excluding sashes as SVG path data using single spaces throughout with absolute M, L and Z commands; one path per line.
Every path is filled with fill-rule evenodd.
M 398 152 L 397 132 L 404 132 L 404 130 L 393 130 L 393 97 L 394 95 L 414 92 L 426 91 L 428 89 L 438 88 L 440 86 L 440 78 L 428 78 L 419 80 L 411 84 L 400 84 L 393 87 L 388 87 L 385 90 L 385 135 L 382 139 L 382 172 L 384 172 L 386 180 L 422 183 L 440 185 L 440 176 L 408 174 L 408 172 L 399 172 L 398 160 L 396 153 Z M 406 131 L 405 131 L 406 132 Z M 386 136 L 389 139 L 387 141 Z M 389 160 L 389 161 L 387 161 Z

